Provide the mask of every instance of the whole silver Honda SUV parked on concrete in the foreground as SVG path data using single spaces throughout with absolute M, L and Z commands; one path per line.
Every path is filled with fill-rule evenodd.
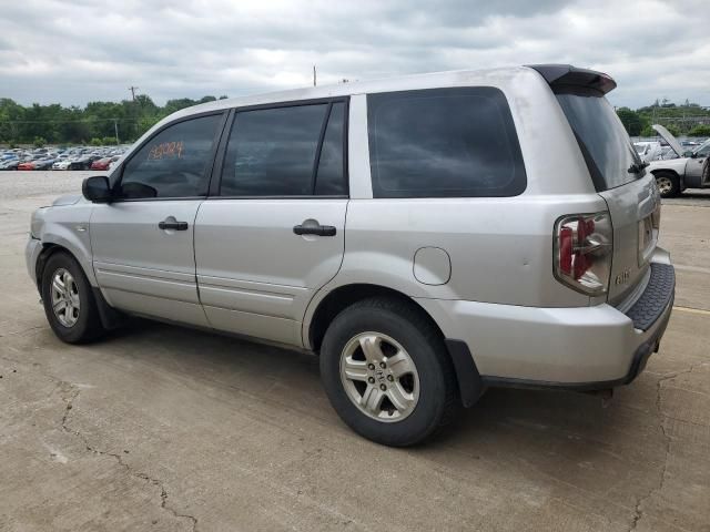
M 625 385 L 674 275 L 615 86 L 532 65 L 186 109 L 34 213 L 29 273 L 68 342 L 139 315 L 315 351 L 390 446 L 487 387 Z

